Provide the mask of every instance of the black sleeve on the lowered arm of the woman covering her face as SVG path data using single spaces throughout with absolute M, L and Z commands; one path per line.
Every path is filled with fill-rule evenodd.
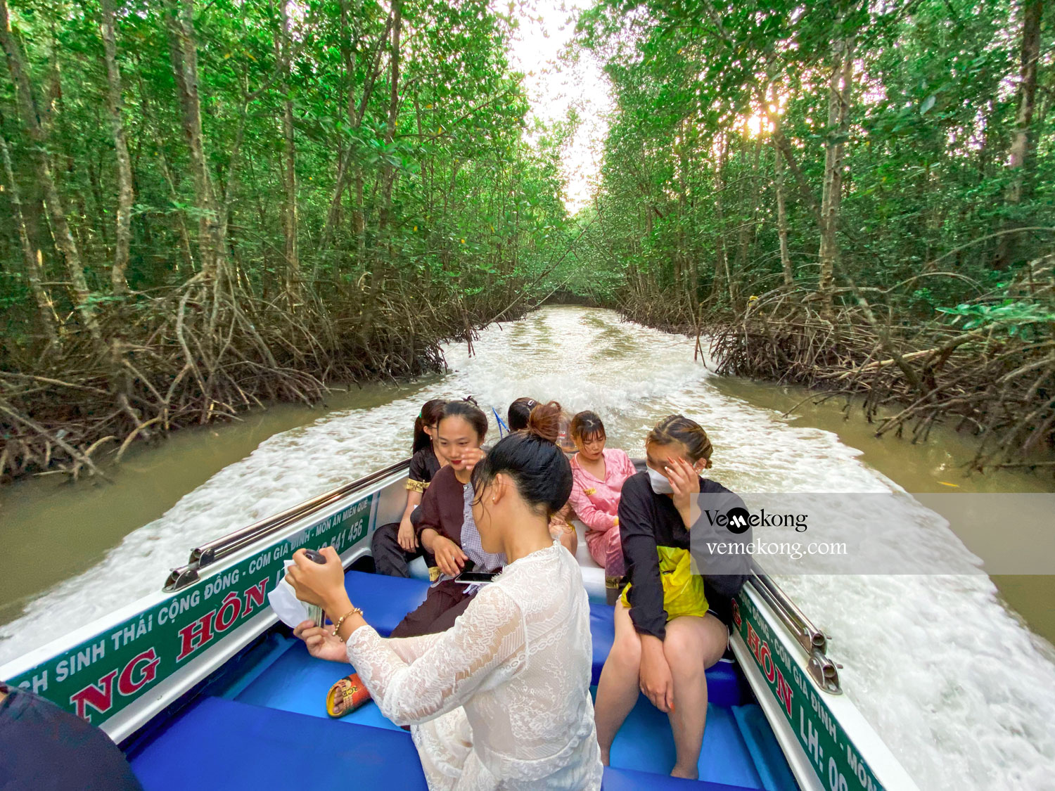
M 659 555 L 651 523 L 652 487 L 639 472 L 622 484 L 619 498 L 619 538 L 630 581 L 630 619 L 639 634 L 660 640 L 667 636 L 667 611 L 663 606 Z

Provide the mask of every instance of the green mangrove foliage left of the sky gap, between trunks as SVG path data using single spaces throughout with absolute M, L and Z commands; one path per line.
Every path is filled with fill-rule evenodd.
M 199 223 L 227 223 L 231 277 L 271 300 L 290 284 L 331 311 L 399 295 L 474 320 L 536 283 L 568 243 L 557 151 L 525 137 L 528 100 L 506 61 L 509 21 L 486 0 L 405 0 L 392 108 L 392 4 L 173 0 L 193 7 L 204 151 L 223 217 L 195 193 L 173 76 L 166 3 L 117 2 L 117 65 L 135 190 L 128 282 L 178 287 L 199 270 Z M 47 128 L 47 153 L 84 262 L 88 306 L 104 309 L 115 250 L 117 163 L 107 114 L 98 0 L 13 0 L 13 31 Z M 290 53 L 288 79 L 280 51 Z M 42 279 L 76 329 L 61 255 L 40 210 L 34 143 L 6 66 L 0 133 Z M 293 117 L 299 259 L 287 259 L 283 113 Z M 347 169 L 342 171 L 342 162 Z M 339 184 L 339 174 L 341 181 Z M 387 182 L 390 180 L 390 189 Z M 6 181 L 0 173 L 0 184 Z M 32 316 L 9 201 L 0 192 L 0 304 L 8 326 Z M 364 276 L 366 277 L 364 279 Z M 15 309 L 9 309 L 15 308 Z M 32 324 L 32 322 L 31 322 Z

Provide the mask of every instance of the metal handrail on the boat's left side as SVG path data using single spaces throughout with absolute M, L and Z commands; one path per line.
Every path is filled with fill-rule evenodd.
M 318 495 L 310 500 L 298 503 L 280 514 L 267 517 L 258 522 L 253 522 L 246 527 L 242 527 L 233 533 L 228 533 L 226 536 L 222 536 L 213 541 L 209 541 L 200 546 L 194 547 L 191 549 L 190 560 L 188 560 L 187 564 L 181 565 L 178 568 L 173 568 L 171 574 L 169 574 L 169 577 L 165 582 L 165 590 L 178 591 L 181 587 L 186 587 L 197 580 L 197 573 L 205 566 L 233 555 L 234 553 L 244 549 L 246 546 L 255 543 L 260 539 L 271 535 L 272 533 L 276 533 L 284 527 L 289 526 L 293 522 L 310 516 L 311 514 L 314 514 L 327 505 L 331 505 L 348 495 L 364 489 L 395 472 L 400 472 L 409 467 L 409 465 L 410 460 L 408 458 L 401 462 L 389 464 L 387 467 L 370 472 L 368 476 L 357 478 L 350 483 L 338 486 L 337 488 L 324 491 L 322 495 Z

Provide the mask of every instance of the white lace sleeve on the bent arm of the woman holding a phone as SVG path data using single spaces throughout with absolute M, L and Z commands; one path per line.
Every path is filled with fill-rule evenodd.
M 410 662 L 369 626 L 348 638 L 348 660 L 381 713 L 397 725 L 456 709 L 493 676 L 512 678 L 526 657 L 523 615 L 498 585 L 482 590 L 454 626 L 433 637 Z

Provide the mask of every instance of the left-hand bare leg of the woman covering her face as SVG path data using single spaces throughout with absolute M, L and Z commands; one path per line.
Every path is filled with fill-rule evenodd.
M 641 638 L 630 620 L 630 611 L 620 601 L 615 605 L 615 640 L 600 672 L 594 707 L 597 744 L 605 766 L 608 766 L 615 734 L 637 702 L 640 667 Z

